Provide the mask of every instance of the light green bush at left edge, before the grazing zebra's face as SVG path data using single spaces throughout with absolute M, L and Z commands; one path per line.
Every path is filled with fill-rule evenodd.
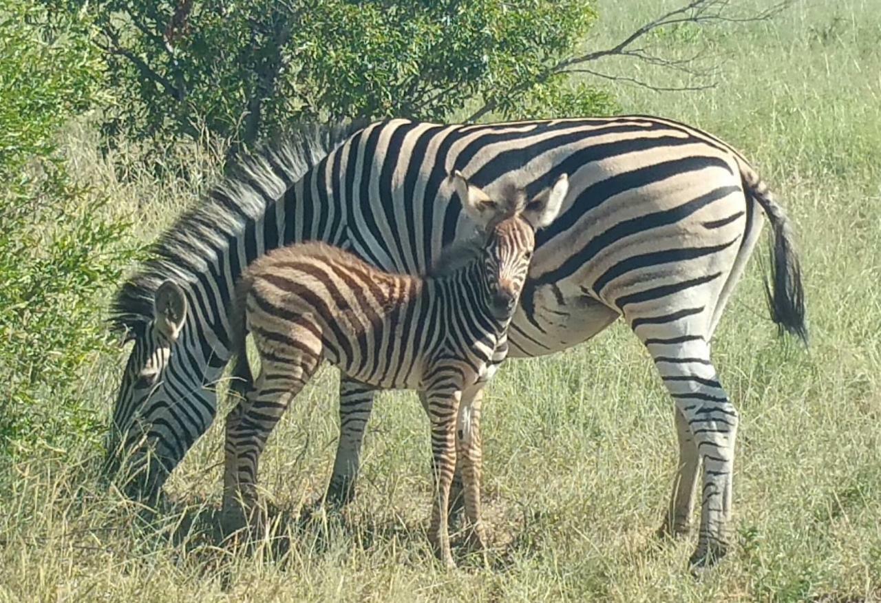
M 77 371 L 107 346 L 95 295 L 129 254 L 123 227 L 85 206 L 56 142 L 100 98 L 91 31 L 0 0 L 0 454 L 98 432 Z

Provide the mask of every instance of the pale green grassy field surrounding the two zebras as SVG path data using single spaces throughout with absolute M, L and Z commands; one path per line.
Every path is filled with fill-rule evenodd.
M 677 5 L 605 2 L 589 47 Z M 807 292 L 805 349 L 779 339 L 768 317 L 763 233 L 714 337 L 741 413 L 736 544 L 716 568 L 692 577 L 696 534 L 655 539 L 677 462 L 672 404 L 646 351 L 615 324 L 565 353 L 509 361 L 490 385 L 489 567 L 460 555 L 448 572 L 433 558 L 428 424 L 409 392 L 377 400 L 355 503 L 340 515 L 302 512 L 322 495 L 336 447 L 337 372 L 325 367 L 261 461 L 278 538 L 251 551 L 218 539 L 222 421 L 149 521 L 101 482 L 101 450 L 73 446 L 0 465 L 0 600 L 881 599 L 881 2 L 798 1 L 768 21 L 651 35 L 669 56 L 711 49 L 717 86 L 609 82 L 621 111 L 690 123 L 742 150 L 795 223 Z M 670 85 L 692 77 L 623 59 L 603 67 Z M 218 174 L 219 151 L 188 156 L 183 181 L 121 173 L 137 151 L 102 157 L 88 125 L 64 137 L 71 172 L 109 196 L 100 211 L 130 220 L 142 242 Z M 80 371 L 81 396 L 102 417 L 126 351 Z

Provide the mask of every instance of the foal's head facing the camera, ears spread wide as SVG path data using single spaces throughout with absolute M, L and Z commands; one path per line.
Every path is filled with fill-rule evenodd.
M 492 198 L 458 170 L 451 178 L 464 212 L 485 235 L 485 301 L 497 320 L 510 320 L 529 272 L 536 231 L 549 226 L 559 214 L 569 190 L 568 177 L 560 175 L 550 188 L 531 199 L 522 189 L 507 190 L 500 198 Z

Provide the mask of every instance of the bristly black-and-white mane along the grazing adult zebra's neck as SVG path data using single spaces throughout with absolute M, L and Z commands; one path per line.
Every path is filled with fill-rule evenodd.
M 250 220 L 259 220 L 266 206 L 284 195 L 366 123 L 306 124 L 273 144 L 244 157 L 204 199 L 159 235 L 145 261 L 115 294 L 110 324 L 122 331 L 137 331 L 153 317 L 153 297 L 167 279 L 179 284 L 194 282 L 208 271 L 218 253 L 245 233 Z

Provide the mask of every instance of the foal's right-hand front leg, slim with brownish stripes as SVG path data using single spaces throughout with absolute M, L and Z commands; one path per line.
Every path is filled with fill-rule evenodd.
M 462 472 L 465 515 L 470 523 L 468 544 L 474 550 L 484 552 L 486 532 L 480 509 L 483 460 L 483 448 L 480 441 L 480 403 L 482 398 L 482 384 L 463 393 L 456 426 L 455 457 L 456 467 Z

